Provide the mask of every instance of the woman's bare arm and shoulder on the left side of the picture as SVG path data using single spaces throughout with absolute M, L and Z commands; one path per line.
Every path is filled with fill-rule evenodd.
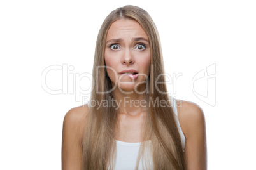
M 82 169 L 82 138 L 87 106 L 75 107 L 67 112 L 62 129 L 62 170 Z

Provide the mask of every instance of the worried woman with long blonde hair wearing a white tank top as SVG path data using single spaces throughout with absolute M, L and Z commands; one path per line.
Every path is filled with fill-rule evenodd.
M 107 16 L 91 100 L 64 118 L 62 169 L 206 169 L 203 111 L 167 95 L 162 61 L 145 10 L 124 6 Z

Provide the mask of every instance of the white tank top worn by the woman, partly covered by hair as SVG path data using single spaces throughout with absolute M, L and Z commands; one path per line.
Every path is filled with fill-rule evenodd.
M 173 96 L 171 96 L 171 103 L 172 103 L 173 111 L 175 113 L 177 127 L 178 127 L 178 131 L 180 132 L 181 143 L 182 143 L 182 147 L 183 147 L 183 151 L 184 151 L 186 139 L 185 139 L 185 136 L 180 127 L 176 100 L 175 100 L 175 98 L 173 98 Z M 146 141 L 146 142 L 150 142 L 150 141 Z M 116 157 L 116 163 L 115 163 L 114 169 L 116 169 L 116 170 L 135 169 L 140 146 L 141 146 L 141 142 L 129 143 L 129 142 L 117 140 L 117 157 Z M 150 165 L 150 164 L 152 164 L 152 161 L 147 162 L 146 164 Z M 145 165 L 140 161 L 138 169 L 142 170 L 143 167 L 145 169 Z

